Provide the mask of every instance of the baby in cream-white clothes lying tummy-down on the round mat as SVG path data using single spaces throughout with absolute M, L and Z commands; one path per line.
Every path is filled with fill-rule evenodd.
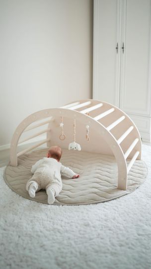
M 32 166 L 33 176 L 26 184 L 26 190 L 30 197 L 34 198 L 36 191 L 46 189 L 48 204 L 53 204 L 55 197 L 59 195 L 63 187 L 61 174 L 70 178 L 79 177 L 69 167 L 62 165 L 61 156 L 62 149 L 59 146 L 51 146 L 47 157 L 38 160 Z

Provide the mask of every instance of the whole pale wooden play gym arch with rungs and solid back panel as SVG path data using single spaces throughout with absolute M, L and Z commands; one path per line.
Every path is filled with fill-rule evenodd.
M 64 119 L 67 139 L 59 140 L 60 119 Z M 46 119 L 44 121 L 44 119 Z M 76 120 L 77 142 L 82 150 L 114 155 L 118 166 L 118 188 L 127 189 L 127 176 L 136 161 L 141 159 L 142 142 L 139 131 L 133 121 L 119 108 L 93 99 L 79 100 L 61 108 L 46 109 L 31 114 L 16 128 L 10 146 L 10 165 L 17 166 L 17 158 L 36 147 L 47 143 L 60 144 L 68 148 L 73 132 L 73 121 Z M 35 122 L 37 122 L 35 124 Z M 40 132 L 25 137 L 20 141 L 22 134 L 43 128 Z M 90 141 L 84 137 L 85 126 L 90 128 Z M 17 152 L 17 146 L 23 142 L 46 134 L 46 139 Z

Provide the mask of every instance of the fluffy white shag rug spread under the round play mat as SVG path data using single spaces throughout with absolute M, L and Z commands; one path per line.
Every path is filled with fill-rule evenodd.
M 0 168 L 0 269 L 150 269 L 149 173 L 131 194 L 92 205 L 55 206 L 25 199 Z

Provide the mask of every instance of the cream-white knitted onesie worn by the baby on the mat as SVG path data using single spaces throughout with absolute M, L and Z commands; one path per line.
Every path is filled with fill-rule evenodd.
M 30 185 L 36 182 L 38 184 L 36 191 L 46 189 L 47 192 L 49 187 L 53 189 L 55 196 L 59 195 L 62 190 L 61 174 L 70 178 L 75 175 L 74 171 L 69 167 L 62 165 L 61 162 L 54 158 L 47 157 L 38 160 L 32 166 L 31 172 L 33 176 L 27 181 L 26 190 L 28 191 Z

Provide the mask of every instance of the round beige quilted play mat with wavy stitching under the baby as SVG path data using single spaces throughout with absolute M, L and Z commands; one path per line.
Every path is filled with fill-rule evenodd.
M 25 189 L 27 180 L 32 176 L 31 166 L 46 155 L 47 149 L 26 153 L 18 158 L 18 166 L 8 164 L 5 181 L 8 186 L 24 198 L 47 204 L 44 190 L 30 198 Z M 80 174 L 77 179 L 63 177 L 63 190 L 56 197 L 58 205 L 82 205 L 109 201 L 133 192 L 145 180 L 148 170 L 144 161 L 136 160 L 128 174 L 127 190 L 117 189 L 118 169 L 115 158 L 84 151 L 63 150 L 61 162 Z

